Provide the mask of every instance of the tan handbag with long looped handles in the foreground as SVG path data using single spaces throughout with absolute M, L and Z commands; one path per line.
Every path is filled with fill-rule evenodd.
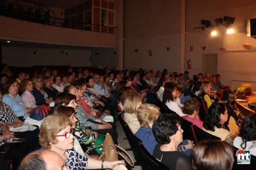
M 102 154 L 99 156 L 99 160 L 117 161 L 118 160 L 118 155 L 120 155 L 120 156 L 122 156 L 123 159 L 125 159 L 125 161 L 131 167 L 134 167 L 134 161 L 132 160 L 129 153 L 127 153 L 122 147 L 118 146 L 117 144 L 114 144 L 113 139 L 112 139 L 112 137 L 109 133 L 106 133 L 106 137 L 105 137 L 105 140 L 104 140 L 103 144 L 88 149 L 85 152 L 85 154 L 87 152 L 89 152 L 90 150 L 95 149 L 97 147 L 102 147 Z M 119 151 L 116 151 L 116 147 L 119 148 L 119 150 L 121 150 L 123 153 L 125 153 L 126 156 L 128 156 L 128 158 L 131 160 L 131 162 L 128 161 L 128 159 L 122 153 L 120 153 Z

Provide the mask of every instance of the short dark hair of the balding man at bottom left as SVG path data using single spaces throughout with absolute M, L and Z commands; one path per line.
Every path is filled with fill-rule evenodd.
M 22 161 L 18 170 L 46 170 L 46 163 L 44 159 L 41 157 L 41 152 L 30 153 L 26 161 Z

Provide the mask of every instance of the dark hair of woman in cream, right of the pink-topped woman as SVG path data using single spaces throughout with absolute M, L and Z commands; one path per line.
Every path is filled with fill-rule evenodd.
M 212 132 L 215 131 L 214 127 L 221 128 L 220 116 L 224 114 L 226 106 L 223 103 L 212 103 L 207 109 L 204 119 L 204 128 Z

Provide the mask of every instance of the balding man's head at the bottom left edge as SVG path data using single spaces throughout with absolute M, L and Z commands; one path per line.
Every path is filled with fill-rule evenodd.
M 52 150 L 29 153 L 20 163 L 19 170 L 68 170 L 61 156 Z

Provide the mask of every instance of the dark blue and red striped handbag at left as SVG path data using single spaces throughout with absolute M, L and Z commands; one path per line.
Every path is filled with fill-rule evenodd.
M 49 116 L 49 111 L 52 111 L 52 109 L 49 108 L 48 106 L 39 105 L 38 107 L 32 110 L 29 117 L 35 120 L 42 120 L 45 117 Z

